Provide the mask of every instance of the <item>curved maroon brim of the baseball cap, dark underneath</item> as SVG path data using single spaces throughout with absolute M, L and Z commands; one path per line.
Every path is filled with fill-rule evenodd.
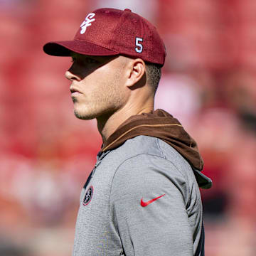
M 43 46 L 43 51 L 53 56 L 70 56 L 70 52 L 80 53 L 83 55 L 118 55 L 119 52 L 98 46 L 87 41 L 56 41 L 49 42 Z

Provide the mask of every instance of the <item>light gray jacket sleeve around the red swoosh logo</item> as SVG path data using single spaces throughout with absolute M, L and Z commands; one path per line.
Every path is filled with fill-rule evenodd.
M 117 169 L 110 210 L 126 256 L 191 256 L 193 235 L 186 201 L 188 182 L 170 161 L 140 154 Z M 150 201 L 142 207 L 141 200 Z

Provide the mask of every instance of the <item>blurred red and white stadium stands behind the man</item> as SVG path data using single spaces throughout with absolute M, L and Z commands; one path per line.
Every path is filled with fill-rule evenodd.
M 42 47 L 102 7 L 132 9 L 164 38 L 155 107 L 196 139 L 213 179 L 201 191 L 206 255 L 256 255 L 255 0 L 0 0 L 0 255 L 71 255 L 101 139 L 73 115 L 70 58 Z

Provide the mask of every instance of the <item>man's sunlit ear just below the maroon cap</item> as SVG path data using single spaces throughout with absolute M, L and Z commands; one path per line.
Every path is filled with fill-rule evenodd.
M 146 73 L 146 64 L 141 58 L 132 59 L 129 63 L 129 77 L 127 86 L 131 87 L 139 82 Z

